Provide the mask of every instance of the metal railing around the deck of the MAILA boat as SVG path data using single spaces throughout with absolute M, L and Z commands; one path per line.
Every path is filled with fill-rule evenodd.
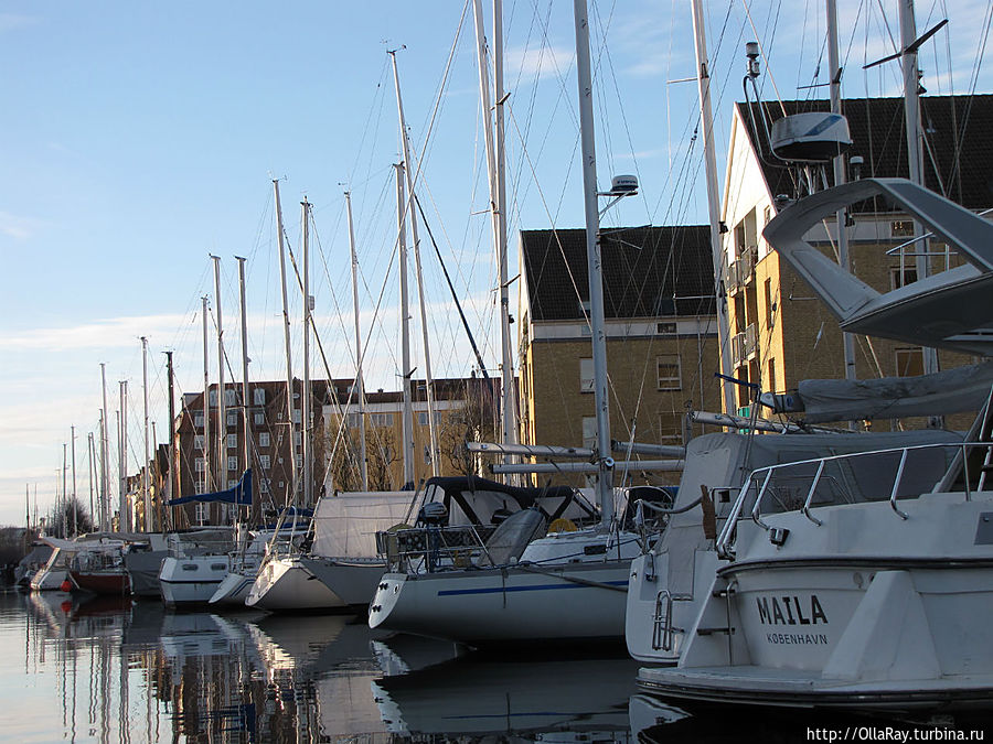
M 897 517 L 907 519 L 898 502 L 921 494 L 947 488 L 969 500 L 974 492 L 989 489 L 982 475 L 991 448 L 990 442 L 920 444 L 757 468 L 732 507 L 717 552 L 733 558 L 740 519 L 750 518 L 775 543 L 777 529 L 764 520 L 772 514 L 800 511 L 820 527 L 823 521 L 812 511 L 818 507 L 888 502 Z

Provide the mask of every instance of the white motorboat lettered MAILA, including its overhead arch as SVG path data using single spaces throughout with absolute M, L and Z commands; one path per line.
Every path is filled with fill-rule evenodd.
M 879 294 L 813 258 L 803 235 L 815 222 L 882 194 L 965 263 Z M 802 200 L 765 235 L 843 327 L 993 356 L 993 225 L 969 211 L 908 181 L 864 180 Z M 727 563 L 686 626 L 679 666 L 642 669 L 640 686 L 773 705 L 987 708 L 991 442 L 993 396 L 959 444 L 757 470 L 717 538 Z

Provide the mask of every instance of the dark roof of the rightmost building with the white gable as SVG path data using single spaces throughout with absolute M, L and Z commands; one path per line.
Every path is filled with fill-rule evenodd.
M 779 119 L 778 103 L 765 103 L 769 122 Z M 829 111 L 826 100 L 783 101 L 787 115 L 803 111 Z M 993 205 L 993 140 L 989 130 L 993 122 L 993 95 L 922 96 L 921 128 L 925 132 L 925 184 L 928 188 L 970 209 Z M 737 104 L 748 137 L 755 147 L 756 134 L 745 104 Z M 762 154 L 769 147 L 761 131 Z M 842 114 L 848 120 L 852 148 L 848 157 L 862 155 L 862 177 L 907 177 L 907 137 L 903 98 L 852 98 L 842 101 Z M 773 161 L 775 162 L 775 161 Z M 762 172 L 772 196 L 797 197 L 790 171 L 762 163 Z M 852 174 L 848 174 L 852 177 Z M 828 179 L 833 173 L 828 169 Z M 868 208 L 868 207 L 864 207 Z

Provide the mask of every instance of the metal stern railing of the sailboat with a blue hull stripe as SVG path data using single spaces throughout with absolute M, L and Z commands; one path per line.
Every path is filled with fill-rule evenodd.
M 376 550 L 387 572 L 434 573 L 465 569 L 485 554 L 493 526 L 412 527 L 376 532 Z

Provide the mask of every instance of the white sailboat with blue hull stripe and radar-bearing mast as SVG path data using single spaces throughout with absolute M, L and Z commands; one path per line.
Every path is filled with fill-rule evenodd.
M 586 7 L 577 0 L 576 48 L 589 265 L 594 392 L 597 410 L 597 500 L 600 525 L 548 520 L 524 509 L 503 521 L 484 544 L 447 559 L 412 550 L 383 575 L 370 607 L 370 627 L 416 633 L 481 646 L 505 641 L 612 640 L 623 637 L 624 593 L 631 559 L 644 537 L 618 513 L 607 418 L 604 287 L 600 271 L 596 160 Z M 632 193 L 626 187 L 618 196 Z M 623 494 L 621 494 L 621 497 Z M 620 510 L 623 514 L 623 509 Z M 652 536 L 654 537 L 654 536 Z M 430 539 L 427 535 L 425 539 Z M 438 536 L 445 540 L 444 530 Z

